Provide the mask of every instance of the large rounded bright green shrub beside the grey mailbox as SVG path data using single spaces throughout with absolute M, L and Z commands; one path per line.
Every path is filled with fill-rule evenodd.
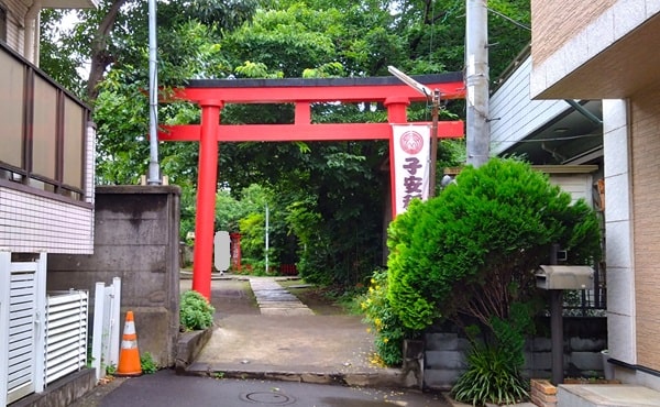
M 416 205 L 415 205 L 416 204 Z M 572 264 L 600 254 L 598 224 L 583 201 L 516 160 L 468 167 L 437 198 L 414 202 L 389 229 L 388 299 L 404 324 L 466 314 L 491 326 L 538 292 L 534 271 L 552 243 Z

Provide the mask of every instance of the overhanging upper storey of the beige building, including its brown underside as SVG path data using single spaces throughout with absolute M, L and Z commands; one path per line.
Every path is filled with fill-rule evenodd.
M 532 99 L 624 99 L 657 82 L 660 0 L 532 0 Z

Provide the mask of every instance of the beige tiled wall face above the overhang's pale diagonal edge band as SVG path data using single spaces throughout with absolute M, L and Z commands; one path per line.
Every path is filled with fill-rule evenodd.
M 616 0 L 535 0 L 531 2 L 531 52 L 540 64 L 576 36 Z

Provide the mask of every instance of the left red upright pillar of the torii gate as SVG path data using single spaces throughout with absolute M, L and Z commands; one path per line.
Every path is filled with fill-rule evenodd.
M 197 218 L 195 220 L 195 253 L 193 289 L 211 300 L 211 264 L 218 189 L 218 125 L 221 101 L 202 102 L 199 174 L 197 176 Z

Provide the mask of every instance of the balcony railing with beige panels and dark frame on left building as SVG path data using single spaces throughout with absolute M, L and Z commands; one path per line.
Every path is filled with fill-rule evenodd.
M 0 72 L 0 183 L 84 200 L 90 109 L 2 42 Z

